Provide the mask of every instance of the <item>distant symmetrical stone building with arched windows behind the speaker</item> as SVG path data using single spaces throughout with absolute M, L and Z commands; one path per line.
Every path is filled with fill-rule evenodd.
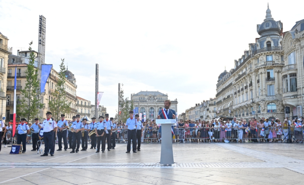
M 160 109 L 164 108 L 164 101 L 168 99 L 168 94 L 158 91 L 140 91 L 131 94 L 134 107 L 138 107 L 139 113 L 146 113 L 146 119 L 156 119 Z M 171 107 L 177 114 L 177 99 L 171 100 Z M 143 117 L 142 117 L 143 119 Z

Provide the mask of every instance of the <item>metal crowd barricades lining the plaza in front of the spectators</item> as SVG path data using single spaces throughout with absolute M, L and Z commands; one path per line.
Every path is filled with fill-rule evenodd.
M 264 127 L 264 128 L 226 128 L 226 127 L 196 127 L 196 128 L 174 128 L 172 129 L 172 142 L 192 143 L 192 142 L 299 142 L 304 141 L 304 128 L 296 127 Z M 31 143 L 31 132 L 27 135 L 27 143 Z M 116 141 L 127 143 L 128 129 L 121 129 L 112 134 L 117 134 Z M 17 143 L 17 133 L 6 135 L 7 144 Z M 161 143 L 161 128 L 143 129 L 141 143 Z M 68 141 L 68 135 L 67 135 Z M 4 142 L 4 141 L 3 141 Z M 88 142 L 91 142 L 88 136 Z M 58 138 L 56 137 L 56 143 Z

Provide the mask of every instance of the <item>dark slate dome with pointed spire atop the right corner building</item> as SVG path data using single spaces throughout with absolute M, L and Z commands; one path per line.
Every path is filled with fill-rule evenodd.
M 268 9 L 266 11 L 266 18 L 264 19 L 264 22 L 261 24 L 258 24 L 256 27 L 256 31 L 260 37 L 268 36 L 268 35 L 280 35 L 282 28 L 281 21 L 275 21 L 274 18 L 272 18 L 271 10 Z

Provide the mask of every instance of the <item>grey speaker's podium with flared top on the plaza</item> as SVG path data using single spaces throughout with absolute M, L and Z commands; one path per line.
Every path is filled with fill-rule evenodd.
M 175 119 L 157 119 L 157 125 L 162 126 L 162 149 L 161 149 L 161 165 L 173 165 L 173 149 L 172 149 L 172 130 L 171 126 L 176 125 Z

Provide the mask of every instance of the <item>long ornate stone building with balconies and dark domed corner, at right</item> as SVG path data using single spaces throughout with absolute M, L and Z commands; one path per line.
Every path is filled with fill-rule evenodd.
M 260 35 L 249 50 L 235 60 L 235 67 L 223 71 L 216 85 L 217 116 L 283 118 L 282 53 L 283 24 L 272 18 L 271 10 L 257 25 Z

